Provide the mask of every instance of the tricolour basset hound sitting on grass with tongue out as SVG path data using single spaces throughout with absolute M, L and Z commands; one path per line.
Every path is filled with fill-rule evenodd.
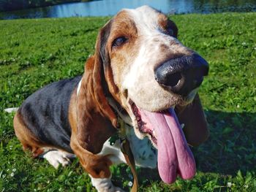
M 148 6 L 123 9 L 99 31 L 83 76 L 53 82 L 29 96 L 14 118 L 24 150 L 58 167 L 79 158 L 97 191 L 121 191 L 110 166 L 126 163 L 124 122 L 137 166 L 158 168 L 165 183 L 191 179 L 208 128 L 197 90 L 207 62 L 177 39 L 166 15 Z

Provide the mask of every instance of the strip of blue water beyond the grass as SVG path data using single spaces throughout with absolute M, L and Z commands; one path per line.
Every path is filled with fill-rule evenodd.
M 124 7 L 135 8 L 144 4 L 167 14 L 256 11 L 256 0 L 102 0 L 0 12 L 0 19 L 108 16 L 115 15 Z

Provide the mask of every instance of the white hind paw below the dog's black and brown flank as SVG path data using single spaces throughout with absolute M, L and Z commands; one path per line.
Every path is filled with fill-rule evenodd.
M 58 168 L 59 164 L 67 166 L 70 164 L 69 158 L 74 157 L 75 155 L 60 150 L 49 150 L 42 155 L 42 158 L 45 158 L 55 169 Z

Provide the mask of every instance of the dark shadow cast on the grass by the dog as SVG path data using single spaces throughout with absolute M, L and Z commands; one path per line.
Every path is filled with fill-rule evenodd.
M 199 147 L 192 147 L 197 163 L 197 171 L 222 175 L 236 175 L 255 170 L 256 162 L 256 113 L 250 112 L 205 112 L 210 129 L 210 137 Z M 130 173 L 129 173 L 130 174 Z M 120 179 L 123 178 L 123 181 Z M 157 169 L 138 168 L 140 184 L 151 180 L 160 181 Z M 121 166 L 118 174 L 113 174 L 116 183 L 132 180 L 127 176 L 127 166 Z

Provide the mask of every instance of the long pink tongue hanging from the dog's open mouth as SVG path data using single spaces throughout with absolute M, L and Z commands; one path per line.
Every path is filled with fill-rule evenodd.
M 158 170 L 165 183 L 173 183 L 177 174 L 183 179 L 195 175 L 195 159 L 187 145 L 173 108 L 166 112 L 138 109 L 146 127 L 157 134 Z

